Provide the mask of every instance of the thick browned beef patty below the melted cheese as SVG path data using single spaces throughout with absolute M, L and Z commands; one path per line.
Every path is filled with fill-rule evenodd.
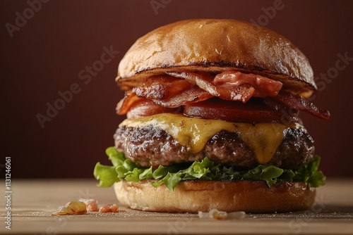
M 234 132 L 215 134 L 202 151 L 191 153 L 163 129 L 150 126 L 119 127 L 114 134 L 115 147 L 142 167 L 167 166 L 208 157 L 215 163 L 249 169 L 259 165 L 253 149 Z M 284 138 L 268 164 L 295 169 L 313 156 L 313 139 L 306 129 L 287 128 Z

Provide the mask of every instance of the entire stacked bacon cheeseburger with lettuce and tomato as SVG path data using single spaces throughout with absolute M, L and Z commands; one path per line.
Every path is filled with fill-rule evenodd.
M 305 210 L 325 184 L 299 111 L 313 70 L 271 30 L 238 20 L 184 20 L 140 37 L 119 63 L 126 115 L 97 163 L 100 186 L 156 212 Z

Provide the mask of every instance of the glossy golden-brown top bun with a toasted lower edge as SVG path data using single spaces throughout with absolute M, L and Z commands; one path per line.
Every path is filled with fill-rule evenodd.
M 121 60 L 116 81 L 128 90 L 150 74 L 234 69 L 279 80 L 304 97 L 316 89 L 308 59 L 292 42 L 265 27 L 225 19 L 184 20 L 145 34 Z

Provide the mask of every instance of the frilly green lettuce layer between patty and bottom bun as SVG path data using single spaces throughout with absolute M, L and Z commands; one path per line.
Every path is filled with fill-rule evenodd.
M 215 164 L 204 158 L 189 165 L 176 164 L 168 167 L 160 165 L 153 170 L 136 165 L 124 157 L 124 153 L 116 151 L 114 147 L 106 150 L 112 166 L 97 163 L 93 172 L 98 186 L 109 187 L 121 179 L 138 182 L 142 179 L 156 179 L 151 184 L 155 187 L 164 184 L 171 191 L 184 180 L 262 180 L 269 187 L 276 182 L 305 182 L 309 187 L 318 187 L 325 184 L 325 175 L 318 170 L 320 157 L 314 156 L 306 165 L 296 170 L 287 170 L 274 165 L 258 165 L 251 170 L 235 170 L 234 167 L 225 167 Z

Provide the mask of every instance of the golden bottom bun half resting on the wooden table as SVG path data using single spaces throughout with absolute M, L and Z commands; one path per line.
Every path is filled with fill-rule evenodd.
M 316 191 L 304 182 L 282 182 L 271 188 L 260 181 L 184 181 L 174 191 L 151 180 L 114 184 L 116 198 L 129 208 L 155 212 L 289 212 L 310 208 Z

